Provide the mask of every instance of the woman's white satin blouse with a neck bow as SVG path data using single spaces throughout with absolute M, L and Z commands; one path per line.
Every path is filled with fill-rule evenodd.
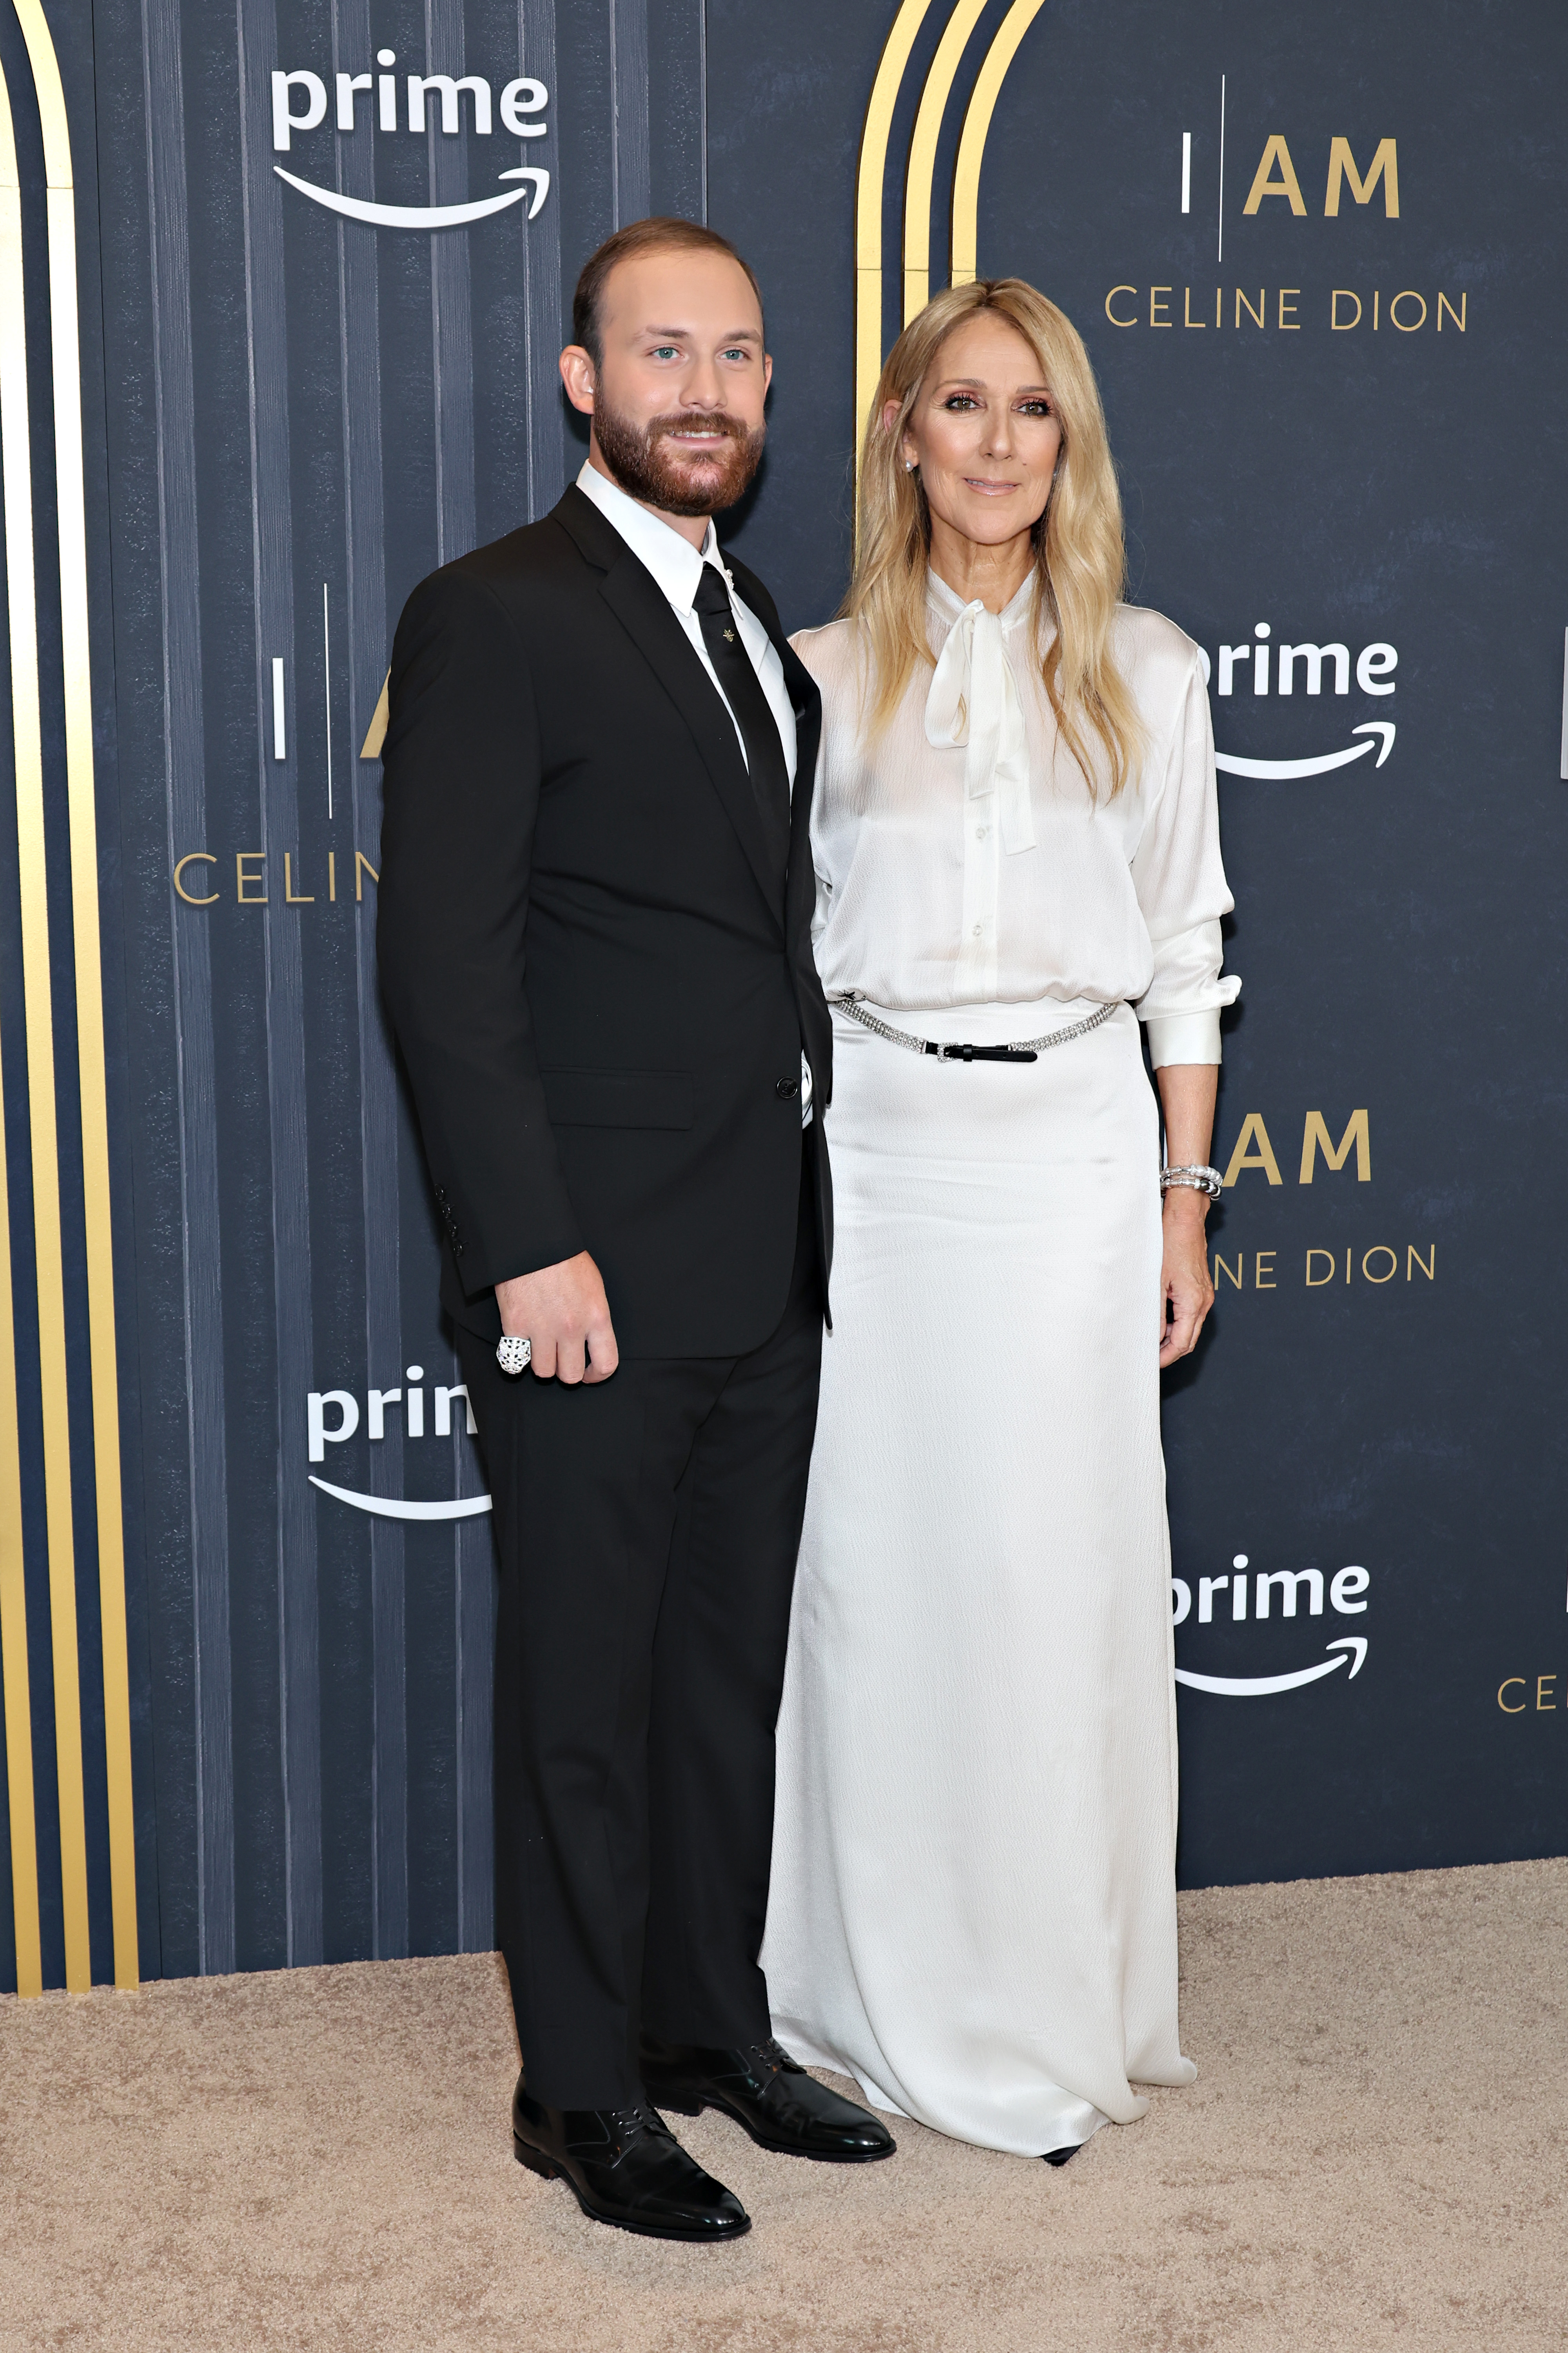
M 1126 1000 L 1152 1061 L 1218 1061 L 1220 864 L 1199 649 L 1121 605 L 1114 649 L 1147 732 L 1133 781 L 1088 791 L 1030 659 L 1025 581 L 1001 614 L 929 574 L 936 675 L 867 746 L 853 621 L 790 642 L 823 689 L 811 809 L 816 960 L 827 995 L 889 1012 Z M 1020 1031 L 1018 1035 L 1025 1035 Z

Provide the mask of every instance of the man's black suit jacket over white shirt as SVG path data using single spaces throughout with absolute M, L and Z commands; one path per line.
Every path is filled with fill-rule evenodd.
M 447 1228 L 442 1301 L 590 1249 L 623 1355 L 738 1355 L 785 1308 L 811 958 L 816 685 L 743 565 L 797 720 L 788 873 L 663 591 L 581 489 L 433 572 L 393 649 L 378 962 Z M 809 1134 L 823 1278 L 832 1193 Z

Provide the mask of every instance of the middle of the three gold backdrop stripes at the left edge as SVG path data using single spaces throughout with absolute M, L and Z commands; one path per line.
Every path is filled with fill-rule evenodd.
M 5 148 L 7 186 L 0 191 L 0 480 L 5 487 L 5 572 L 12 635 L 16 861 L 21 873 L 21 988 L 28 1040 L 28 1125 L 33 1141 L 33 1266 L 38 1275 L 38 1372 L 42 1386 L 45 1513 L 49 1529 L 49 1635 L 54 1659 L 59 1868 L 66 1925 L 66 1986 L 73 1993 L 87 1993 L 92 1986 L 92 1944 L 87 1934 L 82 1687 L 75 1638 L 75 1537 L 71 1520 L 66 1273 L 59 1221 L 59 1129 L 54 1118 L 54 1007 L 49 986 L 45 767 L 38 713 L 33 445 L 28 428 L 28 336 L 21 273 L 21 186 L 16 172 L 9 92 L 5 101 Z

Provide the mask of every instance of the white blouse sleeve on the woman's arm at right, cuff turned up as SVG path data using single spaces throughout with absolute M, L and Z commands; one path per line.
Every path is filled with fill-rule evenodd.
M 1208 689 L 1194 654 L 1171 741 L 1154 755 L 1154 793 L 1133 854 L 1133 889 L 1154 946 L 1154 976 L 1138 1000 L 1150 1061 L 1220 1061 L 1220 1009 L 1241 981 L 1220 972 L 1220 918 L 1234 899 L 1220 861 L 1220 793 Z

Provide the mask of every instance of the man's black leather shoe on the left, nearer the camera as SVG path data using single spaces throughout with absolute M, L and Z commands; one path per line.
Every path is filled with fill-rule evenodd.
M 618 2231 L 710 2245 L 752 2226 L 651 2108 L 545 2108 L 520 2078 L 512 2155 L 545 2181 L 569 2181 L 583 2214 Z

